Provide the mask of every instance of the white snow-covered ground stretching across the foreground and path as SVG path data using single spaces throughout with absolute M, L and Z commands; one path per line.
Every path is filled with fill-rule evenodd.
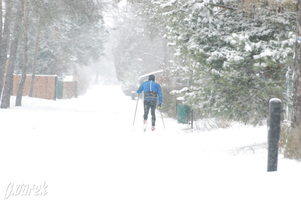
M 132 131 L 137 102 L 119 86 L 14 100 L 0 109 L 2 201 L 300 201 L 301 163 L 279 155 L 266 172 L 266 126 L 186 133 L 157 113 L 143 133 L 139 101 Z

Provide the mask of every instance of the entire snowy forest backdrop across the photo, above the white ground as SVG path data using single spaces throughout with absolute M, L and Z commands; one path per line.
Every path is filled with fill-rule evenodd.
M 139 76 L 163 70 L 156 81 L 169 117 L 183 97 L 196 118 L 257 125 L 266 121 L 269 100 L 280 98 L 283 119 L 301 126 L 300 0 L 3 0 L 0 6 L 1 108 L 9 107 L 13 73 L 23 77 L 21 105 L 26 74 L 71 75 L 81 93 L 91 81 L 116 82 L 116 74 L 130 95 Z

